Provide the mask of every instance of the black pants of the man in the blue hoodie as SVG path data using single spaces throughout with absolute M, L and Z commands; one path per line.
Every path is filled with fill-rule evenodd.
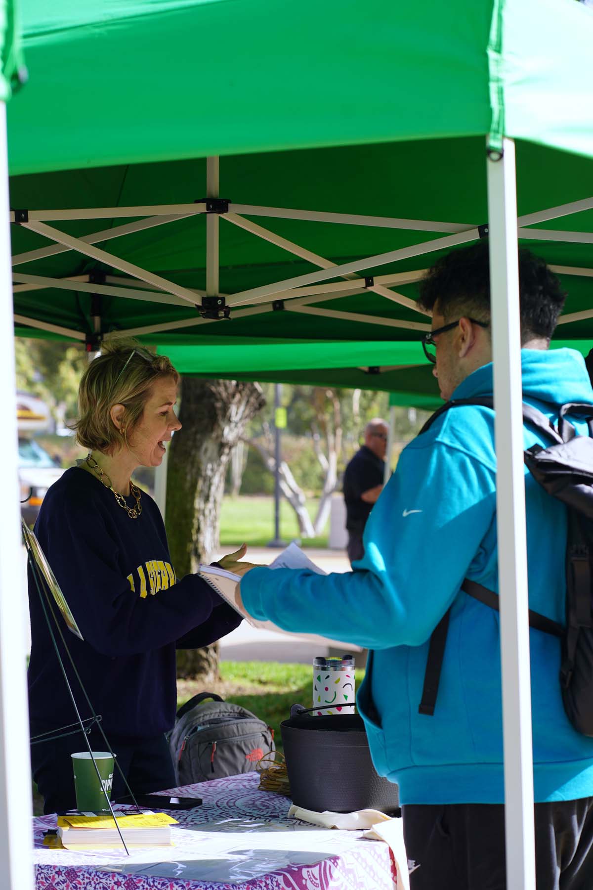
M 502 805 L 414 804 L 402 816 L 411 890 L 505 890 Z M 537 890 L 593 890 L 593 797 L 535 805 L 535 871 Z

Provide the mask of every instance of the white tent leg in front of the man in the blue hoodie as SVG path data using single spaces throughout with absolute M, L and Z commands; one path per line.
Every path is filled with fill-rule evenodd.
M 489 158 L 486 166 L 498 465 L 507 886 L 509 890 L 535 890 L 515 143 L 506 139 L 502 158 Z

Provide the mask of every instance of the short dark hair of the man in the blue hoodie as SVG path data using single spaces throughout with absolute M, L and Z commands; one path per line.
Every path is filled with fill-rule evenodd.
M 553 272 L 539 256 L 519 249 L 519 308 L 521 342 L 554 333 L 565 304 L 565 292 Z M 422 309 L 438 312 L 445 322 L 461 316 L 490 320 L 490 258 L 488 239 L 461 247 L 442 256 L 421 281 Z

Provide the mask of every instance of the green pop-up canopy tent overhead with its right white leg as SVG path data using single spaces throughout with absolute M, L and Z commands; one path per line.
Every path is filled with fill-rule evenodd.
M 573 0 L 29 0 L 9 115 L 20 334 L 408 341 L 422 271 L 489 229 L 511 888 L 533 885 L 514 251 L 591 337 L 592 37 Z

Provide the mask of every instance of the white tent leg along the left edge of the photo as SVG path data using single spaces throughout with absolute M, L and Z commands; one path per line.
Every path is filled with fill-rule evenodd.
M 6 107 L 0 102 L 0 363 L 6 397 L 0 437 L 0 863 L 6 890 L 34 886 L 31 849 L 31 760 L 29 756 L 25 642 L 26 591 L 22 585 L 17 467 L 16 381 L 12 322 L 11 233 L 6 159 Z

